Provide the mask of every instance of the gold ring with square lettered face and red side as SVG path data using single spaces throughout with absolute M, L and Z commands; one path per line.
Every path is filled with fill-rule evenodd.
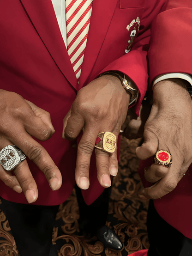
M 111 132 L 102 132 L 97 135 L 95 147 L 108 153 L 116 148 L 116 136 Z

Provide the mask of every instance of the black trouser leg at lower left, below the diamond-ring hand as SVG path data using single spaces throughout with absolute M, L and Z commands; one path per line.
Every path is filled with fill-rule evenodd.
M 19 204 L 1 198 L 20 256 L 49 256 L 59 206 Z

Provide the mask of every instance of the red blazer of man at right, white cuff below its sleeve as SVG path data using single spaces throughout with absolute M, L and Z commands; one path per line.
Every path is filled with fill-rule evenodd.
M 192 75 L 192 1 L 169 0 L 166 11 L 160 13 L 151 26 L 149 49 L 150 84 L 164 73 Z M 192 136 L 192 134 L 188 134 Z M 151 159 L 140 163 L 144 180 L 144 167 Z M 192 239 L 192 165 L 177 187 L 162 199 L 154 200 L 160 216 L 186 237 Z

